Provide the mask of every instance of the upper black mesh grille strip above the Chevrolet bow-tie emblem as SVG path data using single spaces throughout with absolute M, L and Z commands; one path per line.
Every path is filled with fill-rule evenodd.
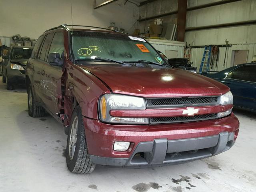
M 218 96 L 214 97 L 187 97 L 187 98 L 152 98 L 146 99 L 149 108 L 156 107 L 176 107 L 184 105 L 207 106 L 218 104 Z

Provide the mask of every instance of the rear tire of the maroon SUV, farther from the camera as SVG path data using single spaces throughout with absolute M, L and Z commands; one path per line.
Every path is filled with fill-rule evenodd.
M 28 115 L 31 117 L 43 117 L 45 109 L 37 106 L 34 102 L 34 96 L 31 85 L 28 86 Z

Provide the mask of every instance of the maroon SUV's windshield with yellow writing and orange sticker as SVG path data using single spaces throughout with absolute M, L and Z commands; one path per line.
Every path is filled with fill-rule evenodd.
M 143 38 L 104 32 L 70 32 L 75 59 L 92 60 L 96 57 L 117 61 L 145 60 L 162 64 L 158 52 Z

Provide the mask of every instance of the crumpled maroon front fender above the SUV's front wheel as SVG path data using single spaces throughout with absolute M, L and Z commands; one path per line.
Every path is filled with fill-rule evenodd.
M 98 119 L 98 98 L 110 90 L 90 72 L 68 63 L 64 98 L 65 114 L 71 118 L 74 107 L 79 104 L 82 115 Z

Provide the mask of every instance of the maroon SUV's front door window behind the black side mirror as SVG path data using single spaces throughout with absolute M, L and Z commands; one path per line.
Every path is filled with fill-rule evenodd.
M 50 46 L 49 54 L 54 52 L 59 53 L 60 58 L 62 58 L 62 54 L 64 53 L 64 37 L 61 32 L 55 33 L 52 39 L 52 44 Z

